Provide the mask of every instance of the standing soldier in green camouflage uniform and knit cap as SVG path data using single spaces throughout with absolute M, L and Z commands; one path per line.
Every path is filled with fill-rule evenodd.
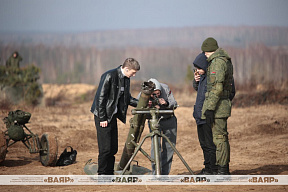
M 217 41 L 207 38 L 201 49 L 207 61 L 207 92 L 202 108 L 202 119 L 212 128 L 213 142 L 216 146 L 216 164 L 219 175 L 228 175 L 230 145 L 227 132 L 227 119 L 231 116 L 231 92 L 233 84 L 233 65 L 229 55 L 218 47 Z M 233 95 L 234 97 L 234 95 Z

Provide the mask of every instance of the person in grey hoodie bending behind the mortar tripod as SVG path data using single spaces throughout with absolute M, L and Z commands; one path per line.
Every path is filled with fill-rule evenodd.
M 177 107 L 177 102 L 173 96 L 168 85 L 164 83 L 159 83 L 156 79 L 149 79 L 155 84 L 154 92 L 151 95 L 151 98 L 154 96 L 158 98 L 159 104 L 157 104 L 156 108 L 158 109 L 174 109 Z M 148 106 L 152 107 L 152 101 L 150 100 Z M 176 146 L 176 137 L 177 137 L 177 118 L 174 114 L 165 114 L 162 115 L 163 118 L 159 122 L 159 131 L 161 131 L 171 143 Z M 150 128 L 150 122 L 148 121 L 148 125 Z M 151 130 L 151 128 L 150 128 Z M 174 150 L 166 141 L 166 139 L 162 138 L 162 143 L 159 138 L 159 158 L 160 158 L 160 172 L 161 175 L 169 175 L 172 165 L 173 153 Z M 151 157 L 154 159 L 154 143 L 151 144 Z M 156 174 L 155 164 L 152 164 L 152 174 Z

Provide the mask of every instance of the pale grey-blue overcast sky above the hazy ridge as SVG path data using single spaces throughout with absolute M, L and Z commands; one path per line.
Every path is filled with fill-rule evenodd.
M 0 0 L 0 32 L 288 26 L 288 0 Z

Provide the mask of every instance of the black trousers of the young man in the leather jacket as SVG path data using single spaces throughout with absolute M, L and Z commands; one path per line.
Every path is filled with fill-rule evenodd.
M 101 127 L 94 116 L 98 140 L 98 175 L 114 175 L 115 154 L 118 151 L 118 127 L 116 115 L 107 127 Z

